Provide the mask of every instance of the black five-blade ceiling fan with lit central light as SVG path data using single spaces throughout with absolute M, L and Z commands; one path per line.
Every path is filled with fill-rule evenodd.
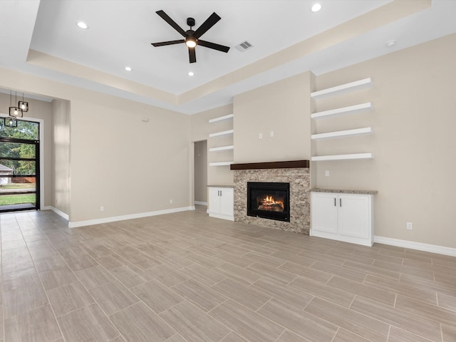
M 199 37 L 201 37 L 204 33 L 207 32 L 207 30 L 209 30 L 209 28 L 217 24 L 217 21 L 222 19 L 215 12 L 211 14 L 209 18 L 207 18 L 206 21 L 204 21 L 204 23 L 199 26 L 199 28 L 197 28 L 197 31 L 192 30 L 192 27 L 195 26 L 195 19 L 193 18 L 187 18 L 187 25 L 190 26 L 190 30 L 184 31 L 164 11 L 160 10 L 156 11 L 155 13 L 161 16 L 162 19 L 170 24 L 170 26 L 172 26 L 172 28 L 174 28 L 177 32 L 182 34 L 182 36 L 184 36 L 184 39 L 179 39 L 177 41 L 162 41 L 160 43 L 152 43 L 153 46 L 157 47 L 185 43 L 185 45 L 188 47 L 188 56 L 190 58 L 190 63 L 196 63 L 197 61 L 197 56 L 195 54 L 195 47 L 197 45 L 204 46 L 205 48 L 213 48 L 214 50 L 222 52 L 229 51 L 228 46 L 223 46 L 220 44 L 211 43 L 210 41 L 203 41 L 199 39 Z

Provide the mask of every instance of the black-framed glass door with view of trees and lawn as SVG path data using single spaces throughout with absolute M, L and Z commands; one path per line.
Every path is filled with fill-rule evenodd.
M 39 123 L 0 118 L 0 212 L 40 208 Z

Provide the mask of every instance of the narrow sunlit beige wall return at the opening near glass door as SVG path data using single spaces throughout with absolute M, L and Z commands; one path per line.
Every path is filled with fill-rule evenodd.
M 70 213 L 70 102 L 52 101 L 53 207 Z

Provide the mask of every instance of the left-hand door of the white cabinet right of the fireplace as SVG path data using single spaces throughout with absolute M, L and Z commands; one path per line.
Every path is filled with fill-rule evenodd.
M 312 192 L 312 230 L 337 234 L 337 196 Z

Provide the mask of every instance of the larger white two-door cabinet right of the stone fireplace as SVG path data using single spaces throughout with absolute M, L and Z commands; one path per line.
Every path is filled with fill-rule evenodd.
M 311 235 L 373 244 L 373 195 L 312 192 Z

